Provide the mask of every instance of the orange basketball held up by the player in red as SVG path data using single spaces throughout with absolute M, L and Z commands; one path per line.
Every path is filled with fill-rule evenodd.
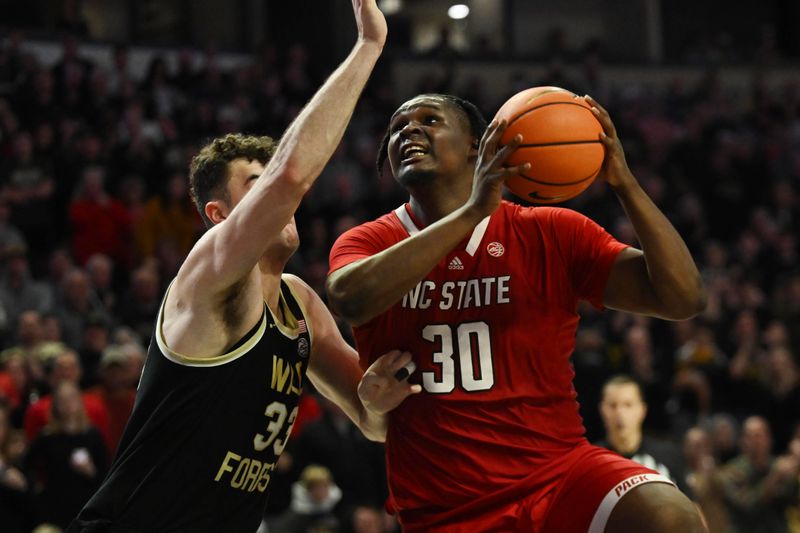
M 591 107 L 575 94 L 559 87 L 526 89 L 509 98 L 495 118 L 508 122 L 501 144 L 518 133 L 523 137 L 506 161 L 507 165 L 531 164 L 524 175 L 506 181 L 520 198 L 540 204 L 563 202 L 597 177 L 605 156 L 600 142 L 603 127 Z

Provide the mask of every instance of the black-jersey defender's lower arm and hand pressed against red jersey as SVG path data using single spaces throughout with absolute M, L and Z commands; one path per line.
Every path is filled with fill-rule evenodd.
M 367 369 L 358 363 L 358 354 L 342 338 L 330 311 L 311 287 L 295 276 L 286 276 L 305 305 L 312 326 L 311 359 L 308 377 L 323 396 L 333 401 L 374 441 L 386 438 L 385 414 L 411 394 L 422 389 L 395 375 L 411 361 L 411 354 L 395 350 L 384 354 Z M 363 379 L 362 379 L 363 378 Z

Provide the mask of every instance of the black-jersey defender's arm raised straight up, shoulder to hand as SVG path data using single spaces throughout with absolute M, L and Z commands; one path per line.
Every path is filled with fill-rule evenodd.
M 219 293 L 242 280 L 328 162 L 386 39 L 375 0 L 353 0 L 353 10 L 356 45 L 289 126 L 263 173 L 247 177 L 254 181 L 249 192 L 227 214 L 206 206 L 209 219 L 226 223 L 207 232 L 189 254 L 179 274 L 184 283 Z

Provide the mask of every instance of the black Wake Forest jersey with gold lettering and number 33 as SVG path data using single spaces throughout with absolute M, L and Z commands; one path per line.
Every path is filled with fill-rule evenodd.
M 265 305 L 236 346 L 203 359 L 167 347 L 162 303 L 117 456 L 69 531 L 258 529 L 311 351 L 310 325 L 283 280 L 280 302 L 286 325 Z

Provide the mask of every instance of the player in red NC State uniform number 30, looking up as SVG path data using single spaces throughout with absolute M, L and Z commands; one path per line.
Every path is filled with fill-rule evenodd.
M 414 355 L 422 394 L 389 413 L 389 506 L 405 531 L 704 531 L 668 479 L 590 445 L 569 357 L 588 300 L 669 320 L 705 305 L 681 237 L 625 162 L 607 112 L 601 176 L 642 250 L 574 211 L 501 200 L 523 170 L 504 161 L 504 123 L 421 95 L 400 106 L 378 156 L 405 205 L 335 243 L 327 289 L 354 325 L 362 366 Z M 485 133 L 484 133 L 485 130 Z

